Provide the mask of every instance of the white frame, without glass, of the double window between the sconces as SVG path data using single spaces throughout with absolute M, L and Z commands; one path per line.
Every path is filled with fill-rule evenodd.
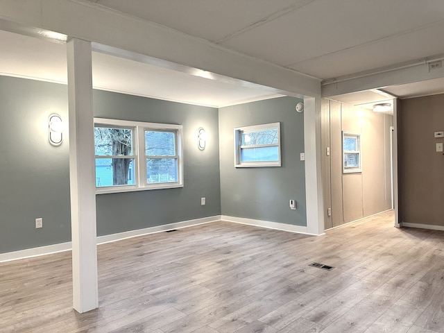
M 96 194 L 146 191 L 150 189 L 172 189 L 183 187 L 183 126 L 170 123 L 146 123 L 119 119 L 94 118 L 94 127 L 133 128 L 133 155 L 135 185 L 112 185 L 96 187 Z M 145 130 L 161 130 L 176 133 L 176 156 L 178 181 L 148 184 L 146 177 Z M 95 159 L 94 159 L 95 160 Z M 94 173 L 96 168 L 94 167 Z M 94 177 L 95 179 L 95 177 Z

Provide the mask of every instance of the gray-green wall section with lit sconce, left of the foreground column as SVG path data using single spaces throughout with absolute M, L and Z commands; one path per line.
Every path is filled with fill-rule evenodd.
M 71 240 L 69 151 L 48 141 L 67 87 L 0 76 L 0 253 Z M 35 229 L 35 218 L 43 228 Z

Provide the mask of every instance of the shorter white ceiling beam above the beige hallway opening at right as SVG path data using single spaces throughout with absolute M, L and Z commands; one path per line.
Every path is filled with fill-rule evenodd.
M 424 60 L 404 67 L 376 71 L 373 74 L 368 73 L 354 78 L 331 80 L 331 82 L 322 85 L 322 96 L 330 97 L 443 77 L 444 69 L 442 67 L 429 70 L 429 63 Z

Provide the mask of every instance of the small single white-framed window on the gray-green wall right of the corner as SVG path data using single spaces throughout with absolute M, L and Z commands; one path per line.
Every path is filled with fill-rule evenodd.
M 280 123 L 234 128 L 235 167 L 280 167 Z

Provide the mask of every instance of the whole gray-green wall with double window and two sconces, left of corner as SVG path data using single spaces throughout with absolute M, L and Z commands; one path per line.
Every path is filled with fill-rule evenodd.
M 47 132 L 53 112 L 67 123 L 67 104 L 65 85 L 0 76 L 0 253 L 71 240 L 68 135 L 53 147 Z M 94 91 L 94 115 L 184 130 L 185 187 L 96 196 L 98 235 L 221 214 L 217 109 Z M 209 134 L 205 151 L 197 148 L 200 126 Z

